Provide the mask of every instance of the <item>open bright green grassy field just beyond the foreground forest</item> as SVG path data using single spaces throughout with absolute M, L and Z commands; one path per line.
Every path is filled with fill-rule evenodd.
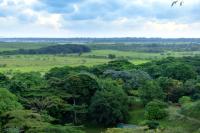
M 118 59 L 128 59 L 134 64 L 142 64 L 151 60 L 166 58 L 168 56 L 195 56 L 200 54 L 200 52 L 166 52 L 160 54 L 116 50 L 93 50 L 92 52 L 84 53 L 81 56 L 78 56 L 77 54 L 0 56 L 0 71 L 46 72 L 53 67 L 79 65 L 90 67 L 109 62 L 111 60 L 108 59 L 109 54 L 116 55 L 116 58 Z

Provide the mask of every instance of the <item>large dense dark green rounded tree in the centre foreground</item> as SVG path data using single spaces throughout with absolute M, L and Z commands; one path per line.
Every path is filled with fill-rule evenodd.
M 113 82 L 101 81 L 98 90 L 91 100 L 89 117 L 102 125 L 113 125 L 124 122 L 128 115 L 128 97 L 122 88 Z

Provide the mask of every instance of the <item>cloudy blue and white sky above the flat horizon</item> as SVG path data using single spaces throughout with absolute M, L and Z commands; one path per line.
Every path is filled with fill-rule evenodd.
M 0 0 L 0 37 L 200 38 L 200 0 Z

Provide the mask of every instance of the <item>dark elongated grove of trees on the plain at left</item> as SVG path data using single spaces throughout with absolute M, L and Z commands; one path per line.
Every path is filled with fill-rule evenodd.
M 84 45 L 55 45 L 47 46 L 38 49 L 19 49 L 13 51 L 3 51 L 2 55 L 15 55 L 15 54 L 71 54 L 71 53 L 84 53 L 90 52 L 90 48 Z

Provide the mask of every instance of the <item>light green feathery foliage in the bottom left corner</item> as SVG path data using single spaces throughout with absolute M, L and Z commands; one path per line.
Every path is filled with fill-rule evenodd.
M 51 119 L 44 119 L 44 116 L 33 113 L 30 110 L 9 111 L 1 115 L 2 130 L 8 132 L 26 133 L 83 133 L 73 126 L 52 125 Z

